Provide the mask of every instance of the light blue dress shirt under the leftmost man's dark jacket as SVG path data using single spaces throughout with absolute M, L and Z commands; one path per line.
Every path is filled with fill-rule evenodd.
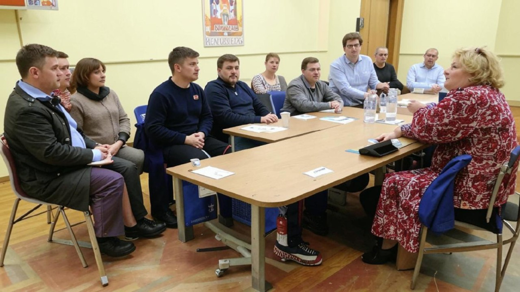
M 48 96 L 43 92 L 42 90 L 25 83 L 23 81 L 18 82 L 18 86 L 25 91 L 28 95 L 40 100 L 40 101 L 50 101 L 53 99 L 51 96 Z M 77 123 L 74 121 L 72 116 L 61 106 L 61 104 L 57 105 L 57 108 L 60 109 L 61 112 L 67 117 L 67 121 L 69 121 L 70 126 L 70 136 L 72 140 L 72 146 L 73 147 L 80 147 L 80 148 L 86 148 L 85 140 L 83 139 L 83 136 L 81 136 L 80 132 L 77 131 Z M 100 161 L 101 160 L 101 151 L 98 149 L 92 149 L 93 158 L 92 162 Z

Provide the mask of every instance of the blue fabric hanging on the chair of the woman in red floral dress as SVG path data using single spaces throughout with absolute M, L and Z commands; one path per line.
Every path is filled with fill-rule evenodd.
M 454 181 L 459 171 L 470 162 L 471 155 L 468 154 L 454 157 L 424 191 L 419 203 L 419 220 L 433 232 L 442 233 L 454 227 Z

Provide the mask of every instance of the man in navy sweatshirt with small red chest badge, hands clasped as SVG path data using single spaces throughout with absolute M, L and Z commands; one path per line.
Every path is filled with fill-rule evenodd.
M 204 91 L 193 83 L 199 78 L 199 53 L 176 47 L 168 56 L 172 77 L 156 87 L 146 111 L 145 131 L 162 149 L 168 167 L 190 162 L 192 158 L 226 154 L 229 145 L 210 136 L 213 117 Z M 222 195 L 219 195 L 219 201 Z M 226 198 L 229 200 L 230 198 Z M 150 194 L 151 214 L 169 228 L 177 228 L 177 217 L 168 207 L 168 196 Z M 222 213 L 222 204 L 221 204 Z M 222 214 L 221 214 L 222 215 Z M 230 216 L 229 216 L 230 217 Z

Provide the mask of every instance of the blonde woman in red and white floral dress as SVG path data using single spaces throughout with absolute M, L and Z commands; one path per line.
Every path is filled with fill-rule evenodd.
M 363 254 L 363 262 L 382 264 L 393 257 L 397 243 L 411 253 L 419 249 L 419 202 L 443 167 L 461 154 L 471 163 L 459 172 L 453 205 L 459 209 L 486 209 L 500 166 L 509 161 L 516 147 L 516 128 L 505 97 L 498 88 L 503 77 L 499 61 L 485 48 L 459 49 L 450 68 L 444 71 L 449 90 L 437 105 L 412 101 L 411 124 L 378 137 L 379 141 L 408 137 L 437 144 L 429 168 L 388 174 L 383 182 L 372 233 L 384 238 L 378 248 Z M 498 207 L 514 193 L 516 168 L 504 177 L 497 195 Z

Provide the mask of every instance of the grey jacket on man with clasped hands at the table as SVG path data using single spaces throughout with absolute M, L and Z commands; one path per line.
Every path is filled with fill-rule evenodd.
M 310 90 L 309 83 L 303 75 L 293 79 L 289 83 L 285 101 L 281 111 L 290 112 L 291 115 L 329 110 L 329 101 L 337 101 L 343 107 L 341 97 L 330 89 L 323 81 L 318 81 L 314 92 Z

